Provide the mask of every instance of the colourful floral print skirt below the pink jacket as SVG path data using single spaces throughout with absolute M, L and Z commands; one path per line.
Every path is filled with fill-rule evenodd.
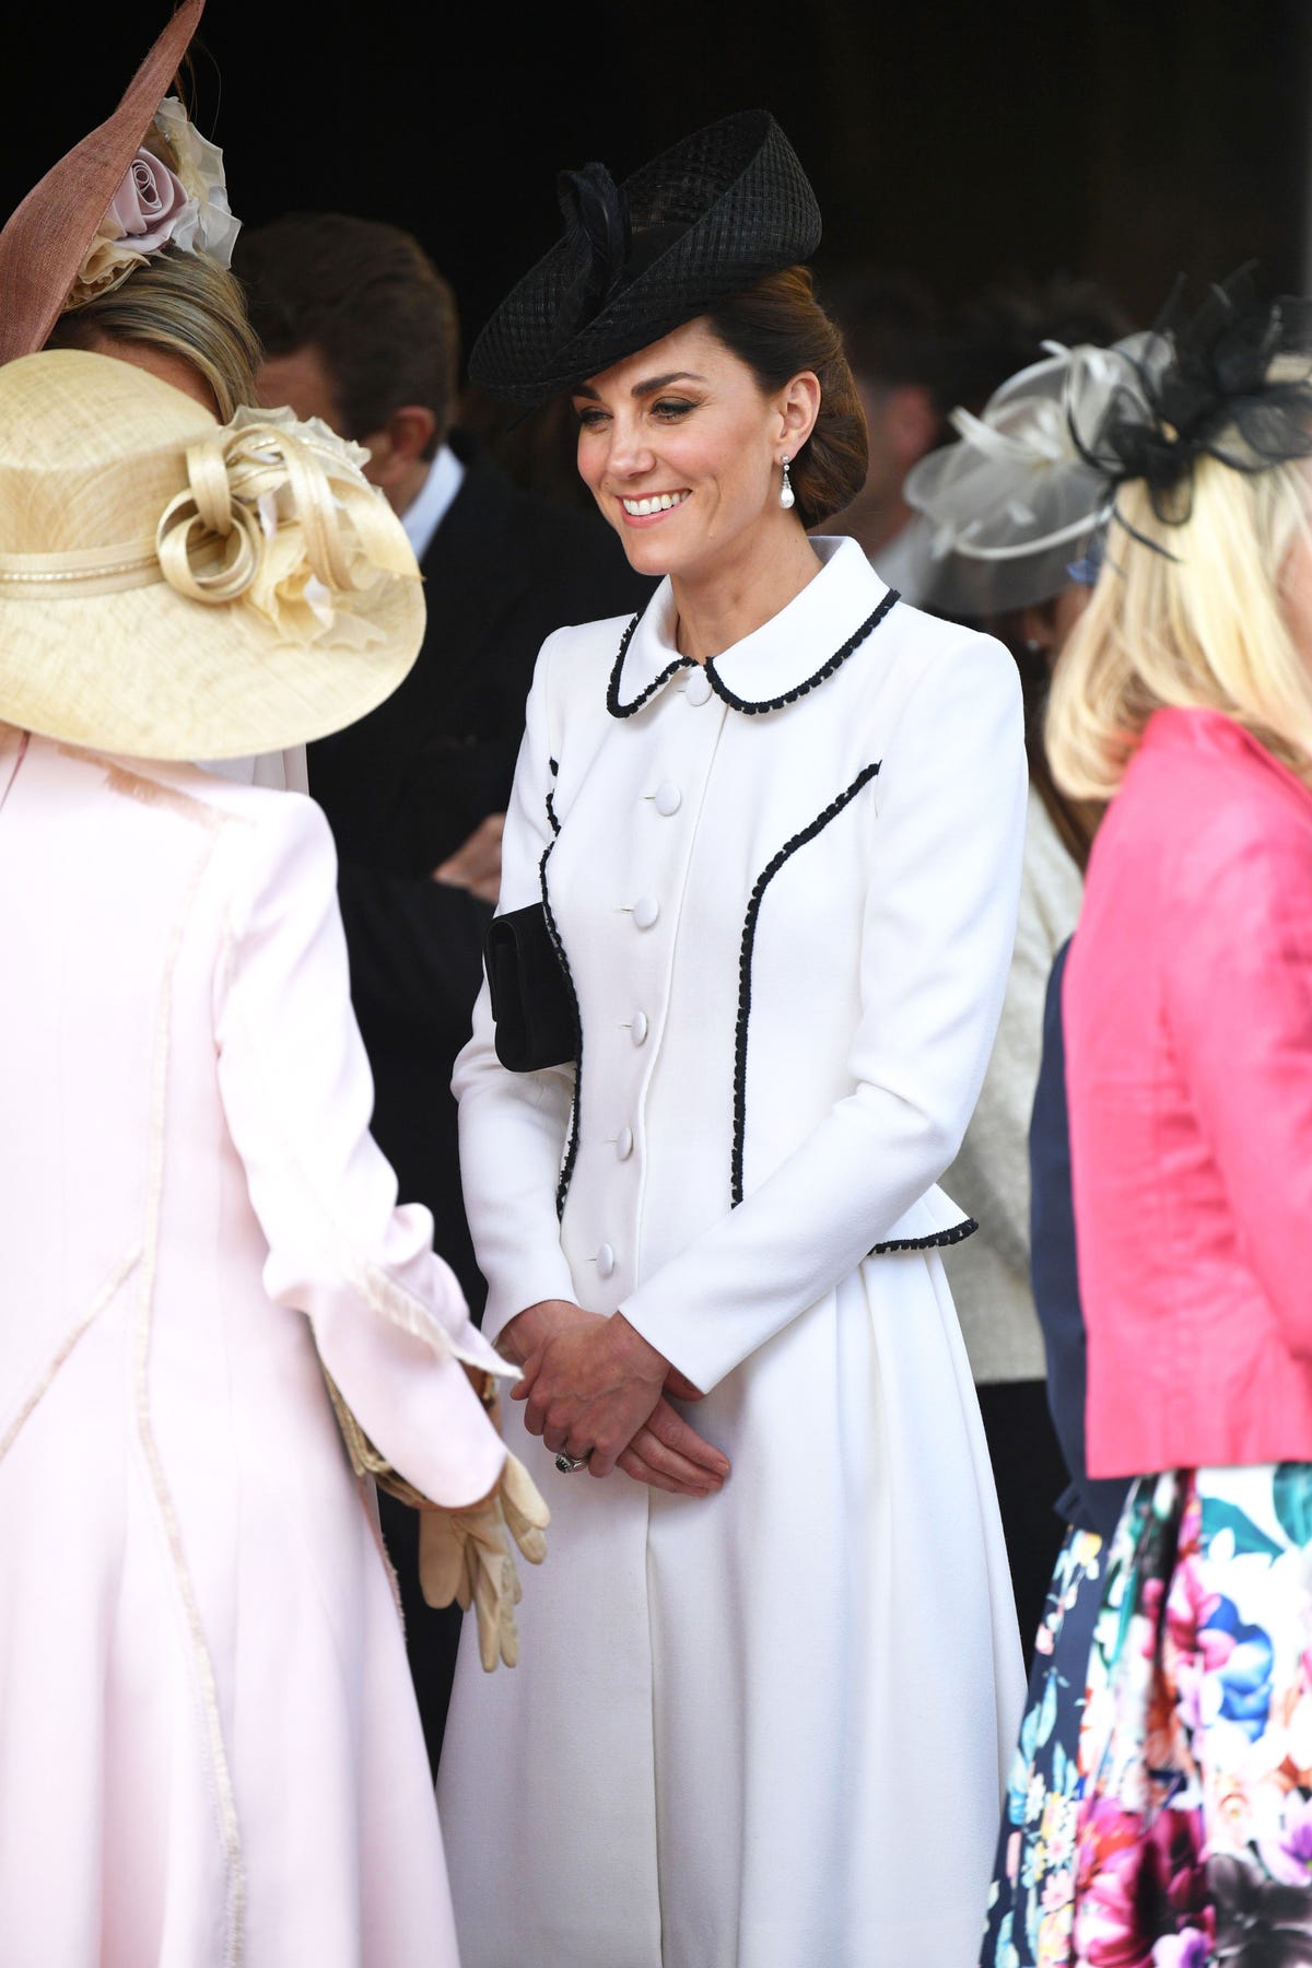
M 1076 1541 L 985 1968 L 1312 1968 L 1312 1464 L 1145 1476 L 1105 1568 Z

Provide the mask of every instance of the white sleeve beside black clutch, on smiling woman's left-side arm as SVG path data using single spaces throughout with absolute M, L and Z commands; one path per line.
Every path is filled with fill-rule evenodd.
M 523 744 L 502 834 L 498 913 L 543 899 L 541 862 L 553 840 L 551 657 L 547 638 L 529 691 Z M 561 1250 L 557 1183 L 574 1098 L 574 1067 L 507 1073 L 496 1057 L 492 1002 L 484 978 L 474 1035 L 454 1065 L 460 1102 L 460 1183 L 478 1267 L 488 1281 L 484 1332 L 541 1299 L 574 1299 Z

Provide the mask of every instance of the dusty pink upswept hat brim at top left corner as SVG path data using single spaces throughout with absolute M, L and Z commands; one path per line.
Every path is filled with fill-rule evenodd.
M 51 165 L 0 232 L 0 362 L 45 346 L 203 12 L 205 0 L 183 0 L 114 114 Z

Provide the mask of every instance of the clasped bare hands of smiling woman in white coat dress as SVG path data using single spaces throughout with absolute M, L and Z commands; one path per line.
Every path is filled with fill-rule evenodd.
M 523 1368 L 511 1399 L 525 1403 L 527 1431 L 553 1452 L 586 1456 L 592 1476 L 620 1468 L 675 1496 L 714 1496 L 730 1474 L 667 1399 L 700 1399 L 698 1389 L 620 1313 L 549 1299 L 519 1313 L 500 1344 Z

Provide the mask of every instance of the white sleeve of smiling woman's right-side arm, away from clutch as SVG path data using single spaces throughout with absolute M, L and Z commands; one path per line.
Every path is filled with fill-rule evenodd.
M 620 1305 L 702 1391 L 854 1271 L 956 1155 L 1007 984 L 1025 787 L 1015 663 L 972 638 L 911 691 L 873 781 L 852 1092 Z

